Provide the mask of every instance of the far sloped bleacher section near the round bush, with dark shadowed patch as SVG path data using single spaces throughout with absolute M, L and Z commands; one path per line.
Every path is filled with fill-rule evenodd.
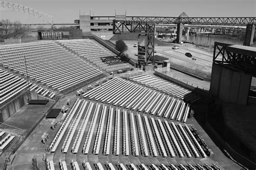
M 117 70 L 127 70 L 131 68 L 131 66 L 117 59 L 115 54 L 99 45 L 95 40 L 76 39 L 59 40 L 58 42 L 71 49 L 73 52 L 78 53 L 80 56 L 83 56 L 83 58 L 99 66 L 106 72 L 115 72 Z

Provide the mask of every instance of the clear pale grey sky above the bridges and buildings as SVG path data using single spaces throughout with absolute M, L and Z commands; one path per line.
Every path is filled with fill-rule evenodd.
M 53 23 L 74 23 L 80 14 L 91 16 L 256 17 L 256 0 L 5 0 L 53 17 Z M 0 8 L 0 20 L 44 23 L 27 13 Z

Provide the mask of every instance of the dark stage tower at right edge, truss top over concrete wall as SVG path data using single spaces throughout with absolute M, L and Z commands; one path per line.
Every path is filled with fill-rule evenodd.
M 227 103 L 247 104 L 256 76 L 254 47 L 215 42 L 210 93 Z

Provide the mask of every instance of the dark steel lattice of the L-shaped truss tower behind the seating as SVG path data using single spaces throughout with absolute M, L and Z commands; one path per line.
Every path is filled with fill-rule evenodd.
M 113 20 L 113 34 L 140 33 L 139 37 L 146 37 L 145 60 L 141 62 L 144 66 L 154 63 L 154 29 L 155 25 L 153 22 Z

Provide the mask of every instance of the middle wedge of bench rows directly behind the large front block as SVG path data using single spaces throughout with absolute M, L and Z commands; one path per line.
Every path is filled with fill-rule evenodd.
M 83 97 L 181 122 L 186 122 L 190 111 L 190 104 L 179 98 L 119 77 L 88 91 Z

